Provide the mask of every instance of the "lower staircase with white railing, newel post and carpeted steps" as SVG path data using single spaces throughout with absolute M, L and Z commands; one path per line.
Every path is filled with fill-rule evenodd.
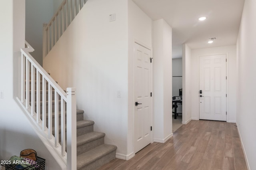
M 68 170 L 95 170 L 114 159 L 117 147 L 104 144 L 105 134 L 94 132 L 94 122 L 83 120 L 84 111 L 76 110 L 75 89 L 63 91 L 28 53 L 33 51 L 32 47 L 28 43 L 26 46 L 21 49 L 21 97 L 18 101 L 34 122 L 34 128 L 41 130 L 41 135 L 66 162 Z M 76 139 L 72 136 L 74 132 Z M 72 154 L 74 151 L 76 154 Z

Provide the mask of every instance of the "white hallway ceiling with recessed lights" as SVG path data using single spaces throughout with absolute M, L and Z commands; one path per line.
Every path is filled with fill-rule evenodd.
M 133 0 L 152 20 L 172 27 L 173 58 L 182 57 L 182 43 L 191 49 L 234 45 L 244 0 Z M 206 16 L 199 21 L 197 18 Z M 208 38 L 217 39 L 209 44 Z

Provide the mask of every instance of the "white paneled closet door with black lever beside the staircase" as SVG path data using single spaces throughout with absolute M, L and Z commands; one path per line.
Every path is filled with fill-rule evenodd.
M 151 51 L 134 43 L 134 152 L 151 143 Z M 138 105 L 135 103 L 138 102 Z

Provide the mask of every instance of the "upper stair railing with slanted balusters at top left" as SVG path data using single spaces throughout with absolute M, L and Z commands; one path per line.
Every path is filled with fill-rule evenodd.
M 45 57 L 87 0 L 64 0 L 50 22 L 43 24 L 43 57 Z

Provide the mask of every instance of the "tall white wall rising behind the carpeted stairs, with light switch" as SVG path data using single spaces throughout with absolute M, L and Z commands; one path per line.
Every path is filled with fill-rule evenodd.
M 77 108 L 105 143 L 127 154 L 128 12 L 127 0 L 88 0 L 44 58 L 59 85 L 76 87 Z M 116 21 L 109 22 L 109 15 Z M 117 97 L 117 91 L 121 97 Z

